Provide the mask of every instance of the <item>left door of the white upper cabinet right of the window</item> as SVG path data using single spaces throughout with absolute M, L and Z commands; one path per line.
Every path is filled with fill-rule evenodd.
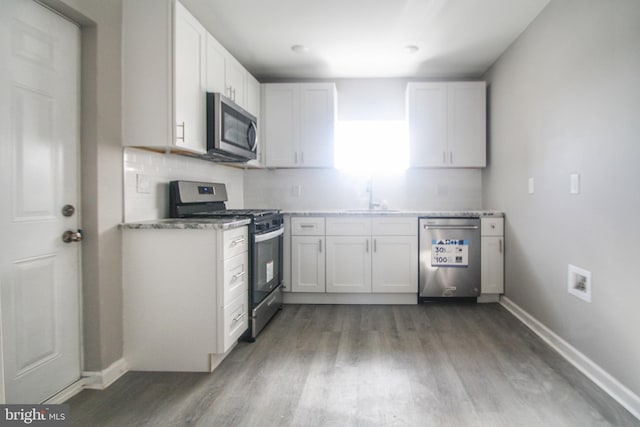
M 446 83 L 409 83 L 407 92 L 411 166 L 446 166 Z

